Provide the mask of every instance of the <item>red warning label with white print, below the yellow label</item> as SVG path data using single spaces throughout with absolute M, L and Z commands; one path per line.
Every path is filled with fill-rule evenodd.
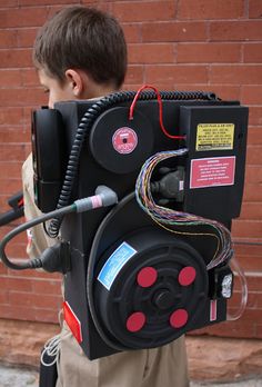
M 235 175 L 235 156 L 191 160 L 190 188 L 232 186 Z

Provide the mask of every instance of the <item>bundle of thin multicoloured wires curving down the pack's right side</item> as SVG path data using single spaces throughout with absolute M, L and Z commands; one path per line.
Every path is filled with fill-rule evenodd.
M 150 157 L 141 168 L 135 183 L 135 197 L 140 207 L 162 228 L 183 236 L 206 236 L 216 238 L 216 250 L 208 264 L 208 270 L 232 256 L 230 231 L 222 224 L 200 216 L 177 211 L 155 204 L 151 192 L 151 178 L 155 167 L 163 160 L 187 155 L 188 149 L 162 151 Z M 184 226 L 209 226 L 213 232 L 190 232 L 181 230 Z

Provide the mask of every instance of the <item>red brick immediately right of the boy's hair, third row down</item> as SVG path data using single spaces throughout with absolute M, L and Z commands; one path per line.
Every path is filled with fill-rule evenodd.
M 143 43 L 129 46 L 130 63 L 173 63 L 174 44 Z

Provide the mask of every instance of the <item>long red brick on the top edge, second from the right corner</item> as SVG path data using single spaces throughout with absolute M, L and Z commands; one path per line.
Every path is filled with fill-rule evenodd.
M 181 0 L 179 19 L 239 19 L 244 16 L 244 0 Z

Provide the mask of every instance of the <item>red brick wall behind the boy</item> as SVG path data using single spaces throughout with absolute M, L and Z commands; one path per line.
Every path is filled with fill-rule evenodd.
M 250 107 L 249 148 L 241 218 L 233 237 L 249 282 L 241 320 L 210 334 L 262 337 L 262 2 L 261 0 L 67 1 L 0 0 L 0 211 L 21 188 L 20 169 L 30 152 L 30 110 L 46 102 L 31 64 L 36 31 L 56 10 L 73 3 L 111 11 L 129 43 L 127 89 L 152 83 L 160 89 L 211 90 Z M 0 236 L 10 230 L 0 229 Z M 26 236 L 10 244 L 24 257 Z M 60 277 L 10 271 L 0 265 L 0 317 L 57 321 Z M 235 295 L 235 307 L 239 295 Z

